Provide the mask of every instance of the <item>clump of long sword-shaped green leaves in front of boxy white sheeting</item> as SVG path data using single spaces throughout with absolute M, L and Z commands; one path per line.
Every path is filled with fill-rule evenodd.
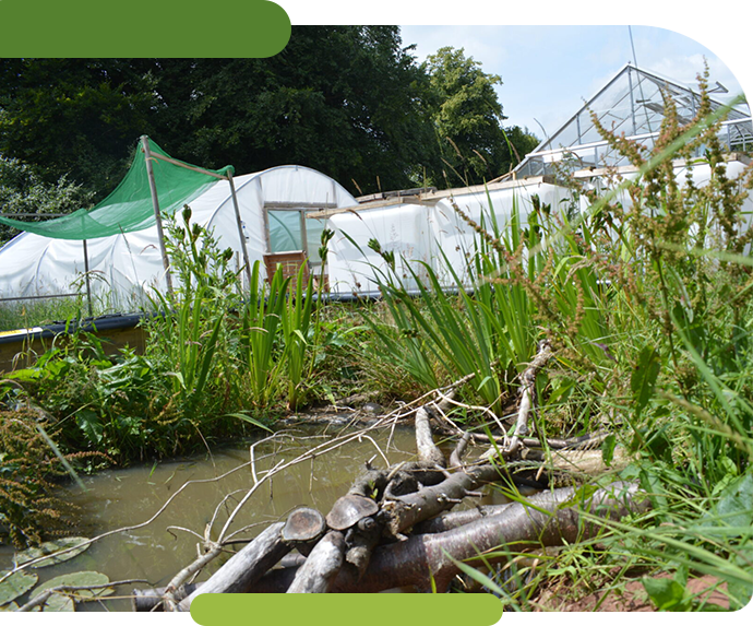
M 370 243 L 391 268 L 380 284 L 390 320 L 383 323 L 368 315 L 366 319 L 386 357 L 423 388 L 473 374 L 478 399 L 501 415 L 515 377 L 542 336 L 560 349 L 570 376 L 581 376 L 586 364 L 593 383 L 601 382 L 599 366 L 608 358 L 611 339 L 598 274 L 575 237 L 559 247 L 541 246 L 559 225 L 536 206 L 526 228 L 516 204 L 504 225 L 497 223 L 491 208 L 485 217 L 490 231 L 455 208 L 479 234 L 464 274 L 442 257 L 442 272 L 452 276 L 457 295 L 447 293 L 435 272 L 421 264 L 426 280 L 407 265 L 418 287 L 418 296 L 410 296 L 391 251 Z

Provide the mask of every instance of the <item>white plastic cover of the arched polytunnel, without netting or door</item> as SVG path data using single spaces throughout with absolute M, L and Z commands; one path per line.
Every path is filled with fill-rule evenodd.
M 251 263 L 261 261 L 267 238 L 264 206 L 334 204 L 356 200 L 328 176 L 301 166 L 282 166 L 234 178 Z M 242 263 L 230 186 L 218 180 L 190 203 L 191 221 L 212 228 L 222 248 Z M 87 241 L 92 291 L 100 307 L 133 310 L 153 288 L 165 290 L 156 226 Z M 0 298 L 85 293 L 82 241 L 23 233 L 0 249 Z

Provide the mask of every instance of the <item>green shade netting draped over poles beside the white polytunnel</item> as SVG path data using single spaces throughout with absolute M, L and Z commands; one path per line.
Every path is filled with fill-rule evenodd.
M 152 170 L 160 212 L 172 215 L 183 204 L 191 202 L 217 182 L 217 178 L 210 174 L 162 161 L 158 156 L 171 157 L 151 139 L 147 141 L 152 152 Z M 182 163 L 175 158 L 171 161 Z M 189 164 L 183 165 L 195 167 Z M 227 165 L 222 169 L 205 169 L 204 172 L 212 172 L 226 178 L 228 173 L 232 174 L 232 166 Z M 139 142 L 131 169 L 116 190 L 94 209 L 79 209 L 70 215 L 47 222 L 20 222 L 0 217 L 0 223 L 53 239 L 95 239 L 143 231 L 153 226 L 155 224 L 154 204 L 141 142 Z

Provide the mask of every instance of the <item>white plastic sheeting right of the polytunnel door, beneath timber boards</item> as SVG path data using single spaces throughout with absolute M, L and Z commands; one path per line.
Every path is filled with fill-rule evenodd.
M 476 223 L 488 224 L 493 210 L 499 226 L 504 228 L 514 204 L 525 224 L 533 196 L 557 210 L 562 200 L 570 198 L 570 192 L 542 178 L 534 178 L 490 185 L 486 189 L 477 187 L 425 194 L 420 204 L 375 209 L 364 205 L 358 214 L 333 215 L 327 221 L 327 227 L 335 232 L 327 257 L 330 290 L 336 294 L 358 295 L 378 292 L 379 279 L 387 267 L 384 259 L 368 247 L 370 239 L 376 239 L 382 250 L 394 252 L 396 271 L 408 290 L 416 287 L 414 274 L 419 280 L 426 277 L 425 265 L 416 261 L 429 265 L 443 286 L 455 286 L 444 257 L 466 282 L 465 268 L 475 233 L 457 214 L 453 203 Z

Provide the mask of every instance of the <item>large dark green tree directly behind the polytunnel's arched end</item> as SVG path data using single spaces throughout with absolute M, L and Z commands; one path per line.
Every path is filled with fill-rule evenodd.
M 294 26 L 270 59 L 159 64 L 155 125 L 182 158 L 307 165 L 355 193 L 414 186 L 438 161 L 427 76 L 395 26 Z

